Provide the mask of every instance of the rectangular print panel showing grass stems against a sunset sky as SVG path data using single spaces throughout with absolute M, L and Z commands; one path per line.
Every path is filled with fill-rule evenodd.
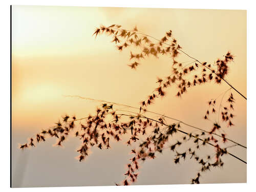
M 246 182 L 246 11 L 11 6 L 11 187 Z

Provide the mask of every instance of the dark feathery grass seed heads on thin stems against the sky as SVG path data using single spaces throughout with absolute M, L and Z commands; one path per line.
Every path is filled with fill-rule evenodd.
M 200 183 L 199 179 L 202 173 L 214 167 L 222 167 L 224 165 L 222 156 L 224 155 L 230 155 L 238 161 L 246 163 L 246 161 L 227 150 L 227 148 L 237 145 L 246 149 L 246 146 L 231 140 L 223 131 L 225 127 L 233 126 L 232 119 L 235 116 L 233 114 L 235 99 L 231 90 L 247 99 L 225 79 L 234 57 L 230 52 L 227 52 L 222 59 L 209 64 L 200 62 L 185 53 L 173 37 L 172 30 L 166 32 L 161 40 L 138 31 L 137 27 L 133 30 L 125 30 L 121 29 L 120 25 L 101 26 L 95 30 L 93 35 L 96 38 L 100 34 L 112 36 L 112 42 L 119 51 L 132 46 L 139 48 L 140 52 L 133 53 L 131 51 L 130 53 L 131 64 L 128 66 L 131 69 L 137 69 L 141 60 L 147 57 L 154 56 L 158 58 L 160 55 L 168 55 L 173 60 L 172 73 L 164 78 L 159 77 L 156 82 L 158 87 L 152 95 L 148 95 L 146 99 L 142 100 L 138 107 L 75 96 L 98 101 L 102 104 L 98 106 L 94 115 L 81 119 L 68 115 L 62 117 L 62 120 L 57 122 L 55 126 L 30 138 L 28 143 L 20 145 L 21 149 L 33 147 L 35 142 L 45 142 L 50 137 L 55 137 L 56 145 L 62 146 L 69 135 L 74 135 L 81 140 L 81 145 L 77 150 L 79 154 L 77 159 L 83 161 L 90 155 L 91 147 L 98 147 L 100 150 L 110 149 L 111 140 L 119 142 L 123 140 L 124 135 L 127 135 L 129 136 L 126 141 L 128 146 L 133 143 L 138 144 L 131 151 L 133 157 L 130 159 L 131 162 L 127 164 L 127 172 L 124 173 L 125 179 L 119 183 L 123 185 L 129 185 L 137 180 L 141 162 L 156 158 L 159 153 L 163 153 L 166 149 L 175 152 L 175 164 L 182 160 L 194 159 L 200 165 L 201 168 L 195 178 L 191 179 L 192 184 Z M 153 40 L 156 42 L 153 42 Z M 178 56 L 180 54 L 186 55 L 193 61 L 186 64 L 179 62 Z M 211 81 L 217 84 L 227 83 L 230 89 L 221 93 L 217 98 L 208 101 L 208 109 L 204 115 L 202 114 L 203 118 L 208 120 L 212 115 L 217 115 L 219 120 L 221 118 L 221 121 L 212 122 L 210 131 L 190 125 L 183 120 L 147 110 L 147 106 L 155 103 L 156 98 L 165 96 L 168 87 L 175 87 L 177 89 L 176 96 L 181 97 L 189 89 Z M 223 104 L 223 99 L 228 92 L 230 92 L 229 96 Z M 220 97 L 222 99 L 218 101 Z M 121 110 L 118 108 L 119 106 L 126 106 L 130 110 Z M 136 110 L 136 112 L 132 110 Z M 158 115 L 158 117 L 148 117 L 147 114 L 150 113 Z M 175 123 L 169 124 L 167 119 L 171 119 Z M 199 130 L 200 133 L 185 132 L 181 129 L 182 125 L 193 127 Z M 183 138 L 177 141 L 174 136 L 178 134 L 182 134 Z M 188 145 L 187 149 L 179 151 L 179 147 L 185 143 Z M 227 146 L 226 143 L 233 143 L 233 145 Z M 199 155 L 202 147 L 209 147 L 209 152 L 207 152 L 209 154 Z

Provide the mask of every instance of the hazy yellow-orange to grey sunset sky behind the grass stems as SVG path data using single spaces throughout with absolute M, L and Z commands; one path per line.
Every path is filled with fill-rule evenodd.
M 110 36 L 92 36 L 100 25 L 112 24 L 125 29 L 137 26 L 156 38 L 172 30 L 183 50 L 200 61 L 214 62 L 230 51 L 235 57 L 227 80 L 246 96 L 244 10 L 12 6 L 13 187 L 114 185 L 123 179 L 131 157 L 125 141 L 113 144 L 108 151 L 94 148 L 82 163 L 74 158 L 79 146 L 75 138 L 62 148 L 52 147 L 55 140 L 50 139 L 27 151 L 18 149 L 18 143 L 53 126 L 61 116 L 82 118 L 100 104 L 67 95 L 138 106 L 156 88 L 156 78 L 170 73 L 172 59 L 167 56 L 147 58 L 136 71 L 131 70 L 127 66 L 129 50 L 118 51 Z M 227 89 L 227 84 L 211 83 L 177 98 L 175 89 L 169 88 L 166 97 L 158 98 L 148 109 L 210 127 L 211 122 L 202 118 L 207 101 Z M 235 126 L 225 132 L 246 145 L 246 101 L 232 93 L 236 99 Z M 246 160 L 243 148 L 236 146 L 229 151 Z M 192 161 L 175 165 L 173 157 L 166 151 L 143 163 L 135 184 L 189 183 L 197 165 Z M 205 174 L 202 183 L 246 182 L 246 165 L 230 156 L 224 160 L 224 167 Z

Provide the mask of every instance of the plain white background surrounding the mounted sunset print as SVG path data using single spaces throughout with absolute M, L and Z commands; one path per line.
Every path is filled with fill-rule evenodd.
M 246 9 L 247 10 L 247 184 L 206 184 L 206 185 L 147 185 L 147 186 L 102 186 L 102 187 L 55 187 L 47 188 L 50 191 L 70 191 L 71 190 L 96 190 L 96 191 L 120 191 L 120 190 L 179 190 L 179 191 L 252 191 L 255 190 L 255 144 L 254 135 L 255 126 L 253 124 L 253 106 L 255 106 L 253 71 L 255 69 L 254 43 L 255 43 L 255 6 L 253 1 L 5 1 L 1 3 L 1 117 L 2 131 L 0 134 L 1 141 L 1 185 L 3 191 L 19 190 L 19 191 L 45 191 L 46 188 L 16 188 L 10 189 L 10 5 L 61 5 L 61 6 L 94 6 L 94 7 L 151 7 L 151 8 L 200 8 L 200 9 Z

